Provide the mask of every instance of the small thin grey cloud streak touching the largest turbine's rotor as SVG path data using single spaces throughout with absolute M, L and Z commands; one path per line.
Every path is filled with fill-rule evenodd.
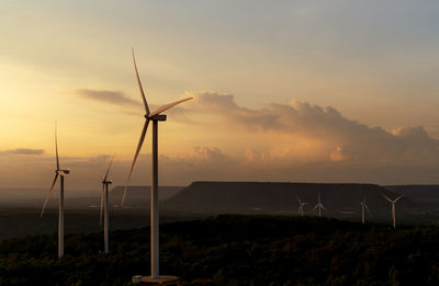
M 83 99 L 123 106 L 142 106 L 140 102 L 130 99 L 119 91 L 78 89 L 75 93 Z

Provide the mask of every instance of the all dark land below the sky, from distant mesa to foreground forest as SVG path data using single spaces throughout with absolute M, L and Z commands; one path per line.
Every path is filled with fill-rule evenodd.
M 160 267 L 181 276 L 183 285 L 438 285 L 436 190 L 258 182 L 162 187 Z M 101 253 L 99 190 L 93 196 L 66 198 L 66 255 L 60 261 L 57 199 L 40 218 L 45 190 L 16 191 L 9 197 L 14 194 L 21 204 L 0 204 L 0 286 L 36 281 L 130 285 L 131 276 L 149 274 L 149 187 L 131 187 L 123 208 L 123 187 L 110 192 L 109 255 Z M 309 210 L 318 193 L 327 208 L 324 216 L 331 218 L 318 219 Z M 396 230 L 382 194 L 404 194 L 396 206 Z M 297 217 L 297 195 L 308 203 L 304 218 Z M 363 198 L 372 210 L 365 226 L 360 222 Z M 230 213 L 247 215 L 209 218 Z

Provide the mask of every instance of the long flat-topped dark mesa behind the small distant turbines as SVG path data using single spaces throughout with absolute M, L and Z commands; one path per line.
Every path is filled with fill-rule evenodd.
M 390 208 L 382 194 L 393 198 L 397 194 L 374 184 L 322 184 L 322 183 L 263 183 L 263 182 L 194 182 L 162 203 L 165 209 L 194 213 L 282 213 L 297 211 L 299 203 L 307 202 L 309 211 L 322 203 L 327 213 L 358 211 L 365 197 L 373 210 Z M 407 197 L 398 202 L 398 208 L 413 207 Z

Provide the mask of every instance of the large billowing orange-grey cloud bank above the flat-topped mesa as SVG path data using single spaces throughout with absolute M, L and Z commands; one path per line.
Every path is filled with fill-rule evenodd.
M 439 162 L 439 141 L 421 126 L 386 131 L 346 118 L 334 107 L 307 102 L 271 103 L 256 110 L 239 106 L 232 94 L 190 95 L 194 101 L 188 103 L 189 112 L 218 117 L 217 124 L 229 133 L 256 133 L 269 140 L 264 160 Z M 261 158 L 256 151 L 246 151 L 246 157 Z

